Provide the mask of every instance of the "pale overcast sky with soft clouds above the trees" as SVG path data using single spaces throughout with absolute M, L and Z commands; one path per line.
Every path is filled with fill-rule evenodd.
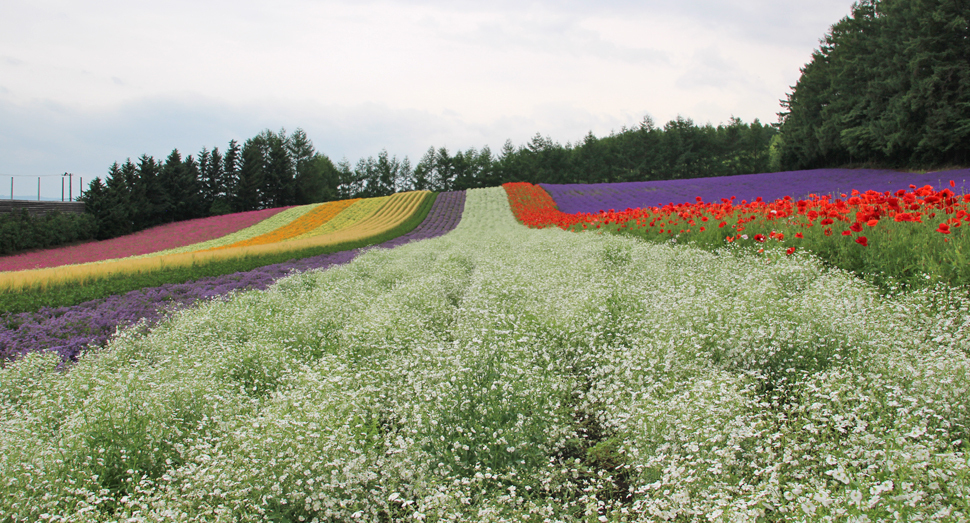
M 86 184 L 266 128 L 301 127 L 334 161 L 386 148 L 415 163 L 646 115 L 772 123 L 851 4 L 0 0 L 0 197 L 10 175 Z M 17 184 L 36 195 L 36 178 Z

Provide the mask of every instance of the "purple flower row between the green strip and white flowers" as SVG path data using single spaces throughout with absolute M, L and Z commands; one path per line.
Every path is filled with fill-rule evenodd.
M 428 216 L 414 230 L 377 247 L 392 248 L 441 236 L 458 225 L 464 208 L 464 191 L 441 193 Z M 0 361 L 36 351 L 53 351 L 65 362 L 77 361 L 78 355 L 89 345 L 104 345 L 117 329 L 133 325 L 142 318 L 147 326 L 151 326 L 168 313 L 199 300 L 226 296 L 233 291 L 265 289 L 293 271 L 345 264 L 360 252 L 361 249 L 354 249 L 290 260 L 246 272 L 139 289 L 71 307 L 0 314 Z

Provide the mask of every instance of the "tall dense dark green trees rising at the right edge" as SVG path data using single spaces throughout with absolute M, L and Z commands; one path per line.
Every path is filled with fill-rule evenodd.
M 970 163 L 970 2 L 860 0 L 780 117 L 786 170 Z

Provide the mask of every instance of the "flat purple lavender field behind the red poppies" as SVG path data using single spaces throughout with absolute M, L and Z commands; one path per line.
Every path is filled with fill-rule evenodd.
M 663 206 L 669 203 L 693 203 L 700 196 L 705 202 L 718 202 L 735 196 L 737 201 L 757 197 L 774 200 L 791 196 L 799 199 L 811 193 L 823 195 L 858 191 L 896 191 L 910 184 L 936 189 L 956 182 L 957 193 L 970 192 L 970 169 L 932 173 L 905 173 L 875 169 L 814 169 L 781 173 L 743 174 L 716 178 L 660 180 L 651 182 L 596 184 L 540 184 L 556 201 L 559 210 L 599 212 L 601 210 Z

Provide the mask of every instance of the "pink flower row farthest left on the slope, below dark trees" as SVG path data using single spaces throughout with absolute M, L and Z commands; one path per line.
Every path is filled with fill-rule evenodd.
M 169 223 L 110 240 L 3 256 L 0 257 L 0 271 L 43 269 L 184 247 L 232 234 L 288 208 L 278 207 Z

